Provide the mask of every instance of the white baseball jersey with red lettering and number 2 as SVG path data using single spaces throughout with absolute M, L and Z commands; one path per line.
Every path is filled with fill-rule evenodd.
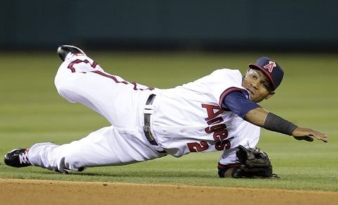
M 223 111 L 222 99 L 241 86 L 239 70 L 219 69 L 194 82 L 162 89 L 154 101 L 152 128 L 157 142 L 173 156 L 195 151 L 224 151 L 222 163 L 233 163 L 236 147 L 255 147 L 260 128 L 232 111 Z M 231 159 L 230 159 L 231 158 Z

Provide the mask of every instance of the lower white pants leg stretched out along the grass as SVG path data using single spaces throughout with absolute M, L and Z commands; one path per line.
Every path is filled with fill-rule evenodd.
M 28 158 L 34 166 L 65 173 L 67 170 L 124 165 L 165 156 L 152 149 L 140 135 L 137 130 L 119 130 L 111 126 L 69 144 L 34 144 L 28 151 Z

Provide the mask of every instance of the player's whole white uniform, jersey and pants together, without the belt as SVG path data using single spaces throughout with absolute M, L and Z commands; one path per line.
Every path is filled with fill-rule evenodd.
M 223 151 L 220 163 L 234 163 L 236 147 L 255 147 L 260 134 L 257 126 L 220 108 L 229 92 L 247 94 L 241 80 L 239 70 L 220 69 L 172 89 L 150 89 L 105 73 L 85 55 L 68 54 L 56 73 L 56 89 L 68 101 L 100 113 L 111 126 L 69 144 L 34 144 L 28 159 L 35 166 L 62 173 L 195 151 Z M 143 132 L 145 102 L 150 94 L 156 94 L 151 132 L 158 147 L 167 153 L 159 152 Z

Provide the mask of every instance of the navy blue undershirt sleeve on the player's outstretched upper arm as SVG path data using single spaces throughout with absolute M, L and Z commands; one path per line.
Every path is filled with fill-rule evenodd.
M 224 110 L 233 111 L 242 119 L 244 119 L 248 111 L 260 107 L 248 99 L 247 92 L 243 92 L 242 89 L 236 87 L 231 87 L 222 94 L 220 104 Z

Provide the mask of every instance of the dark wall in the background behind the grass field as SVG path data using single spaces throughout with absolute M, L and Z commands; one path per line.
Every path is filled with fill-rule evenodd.
M 336 0 L 5 0 L 0 19 L 0 50 L 338 51 Z

